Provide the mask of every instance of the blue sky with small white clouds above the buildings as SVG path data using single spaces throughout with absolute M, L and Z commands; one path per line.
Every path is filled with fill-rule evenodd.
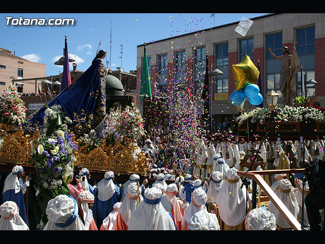
M 214 15 L 213 15 L 214 14 Z M 136 70 L 137 45 L 213 26 L 253 18 L 266 13 L 0 13 L 0 47 L 32 62 L 46 64 L 47 75 L 62 72 L 54 62 L 63 55 L 64 36 L 68 36 L 69 55 L 77 69 L 85 71 L 96 50 L 108 52 L 112 70 Z M 11 18 L 10 18 L 11 17 Z M 74 19 L 73 25 L 19 25 L 19 18 Z M 21 21 L 22 23 L 22 21 Z M 110 41 L 112 27 L 112 56 Z M 122 58 L 121 58 L 122 57 Z M 70 64 L 72 70 L 72 64 Z

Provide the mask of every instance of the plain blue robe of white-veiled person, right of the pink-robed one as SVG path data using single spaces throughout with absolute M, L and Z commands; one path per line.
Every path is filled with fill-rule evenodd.
M 116 185 L 115 185 L 116 186 Z M 107 201 L 101 201 L 97 198 L 97 217 L 98 226 L 103 224 L 103 220 L 113 211 L 113 206 L 115 203 L 120 201 L 121 193 L 120 187 L 116 186 L 116 191 L 113 196 Z

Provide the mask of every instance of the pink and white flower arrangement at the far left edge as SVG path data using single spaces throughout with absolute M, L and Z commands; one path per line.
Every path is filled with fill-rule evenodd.
M 0 122 L 14 126 L 24 122 L 25 106 L 13 85 L 2 92 L 0 97 Z

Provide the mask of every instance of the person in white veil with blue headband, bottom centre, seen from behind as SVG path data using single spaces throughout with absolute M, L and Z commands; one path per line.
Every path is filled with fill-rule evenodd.
M 142 192 L 143 201 L 133 212 L 128 222 L 128 230 L 176 230 L 172 215 L 161 204 L 161 191 L 146 188 Z

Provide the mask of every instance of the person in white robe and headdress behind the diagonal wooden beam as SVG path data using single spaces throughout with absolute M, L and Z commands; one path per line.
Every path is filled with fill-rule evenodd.
M 281 179 L 279 181 L 278 189 L 275 194 L 291 212 L 291 214 L 297 219 L 299 215 L 299 206 L 297 198 L 293 192 L 293 186 L 288 179 Z M 276 218 L 276 225 L 278 230 L 292 230 L 293 228 L 281 215 L 280 211 L 276 208 L 272 201 L 268 204 L 268 210 L 274 214 Z

